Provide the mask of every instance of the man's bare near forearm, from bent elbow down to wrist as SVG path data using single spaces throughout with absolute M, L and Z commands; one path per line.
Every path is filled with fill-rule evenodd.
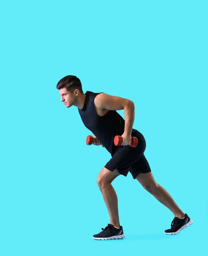
M 125 128 L 124 134 L 131 136 L 133 122 L 134 122 L 134 103 L 129 101 L 124 107 L 124 119 L 125 119 Z

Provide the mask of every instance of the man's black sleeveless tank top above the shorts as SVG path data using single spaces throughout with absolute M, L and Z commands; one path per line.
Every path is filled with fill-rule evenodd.
M 95 137 L 101 142 L 102 145 L 110 152 L 111 156 L 120 147 L 114 145 L 114 137 L 124 133 L 125 120 L 115 110 L 108 111 L 105 116 L 98 116 L 95 109 L 94 100 L 100 93 L 93 93 L 87 91 L 84 106 L 82 109 L 78 108 L 79 114 L 84 125 L 92 131 Z M 138 131 L 132 129 L 132 136 L 137 134 Z M 91 134 L 91 135 L 93 135 Z

